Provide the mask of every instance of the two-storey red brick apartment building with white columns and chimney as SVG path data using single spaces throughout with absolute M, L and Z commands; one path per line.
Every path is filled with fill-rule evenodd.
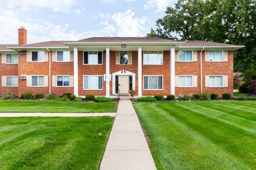
M 18 44 L 0 45 L 0 96 L 233 94 L 233 52 L 243 47 L 146 37 L 27 44 L 23 27 L 18 37 Z

